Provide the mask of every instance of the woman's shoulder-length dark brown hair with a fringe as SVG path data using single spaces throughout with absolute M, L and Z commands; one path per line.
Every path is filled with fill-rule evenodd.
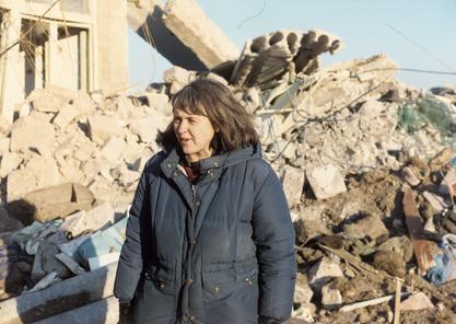
M 198 79 L 179 90 L 171 103 L 173 111 L 209 118 L 212 127 L 219 130 L 211 142 L 218 153 L 255 144 L 259 140 L 254 117 L 237 102 L 231 90 L 218 81 Z M 157 143 L 165 149 L 178 146 L 173 121 L 160 132 Z

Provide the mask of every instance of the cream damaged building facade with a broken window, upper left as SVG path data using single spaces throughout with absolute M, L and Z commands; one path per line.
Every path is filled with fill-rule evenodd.
M 0 0 L 2 118 L 34 89 L 125 89 L 126 13 L 125 0 Z

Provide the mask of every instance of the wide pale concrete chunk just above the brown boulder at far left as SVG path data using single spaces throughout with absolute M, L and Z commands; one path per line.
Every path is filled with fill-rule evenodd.
M 39 155 L 33 157 L 24 167 L 13 171 L 8 176 L 8 201 L 23 197 L 25 194 L 58 185 L 63 182 L 52 159 Z

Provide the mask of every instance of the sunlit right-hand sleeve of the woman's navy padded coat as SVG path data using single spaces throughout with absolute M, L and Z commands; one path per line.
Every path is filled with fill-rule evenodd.
M 296 280 L 294 229 L 282 185 L 270 166 L 255 196 L 253 225 L 259 265 L 258 314 L 284 321 L 291 315 Z

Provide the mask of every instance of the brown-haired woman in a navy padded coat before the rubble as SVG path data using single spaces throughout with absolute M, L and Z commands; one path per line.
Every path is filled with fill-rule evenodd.
M 223 84 L 172 99 L 163 151 L 147 163 L 115 282 L 133 323 L 282 323 L 296 262 L 288 204 L 253 117 Z

